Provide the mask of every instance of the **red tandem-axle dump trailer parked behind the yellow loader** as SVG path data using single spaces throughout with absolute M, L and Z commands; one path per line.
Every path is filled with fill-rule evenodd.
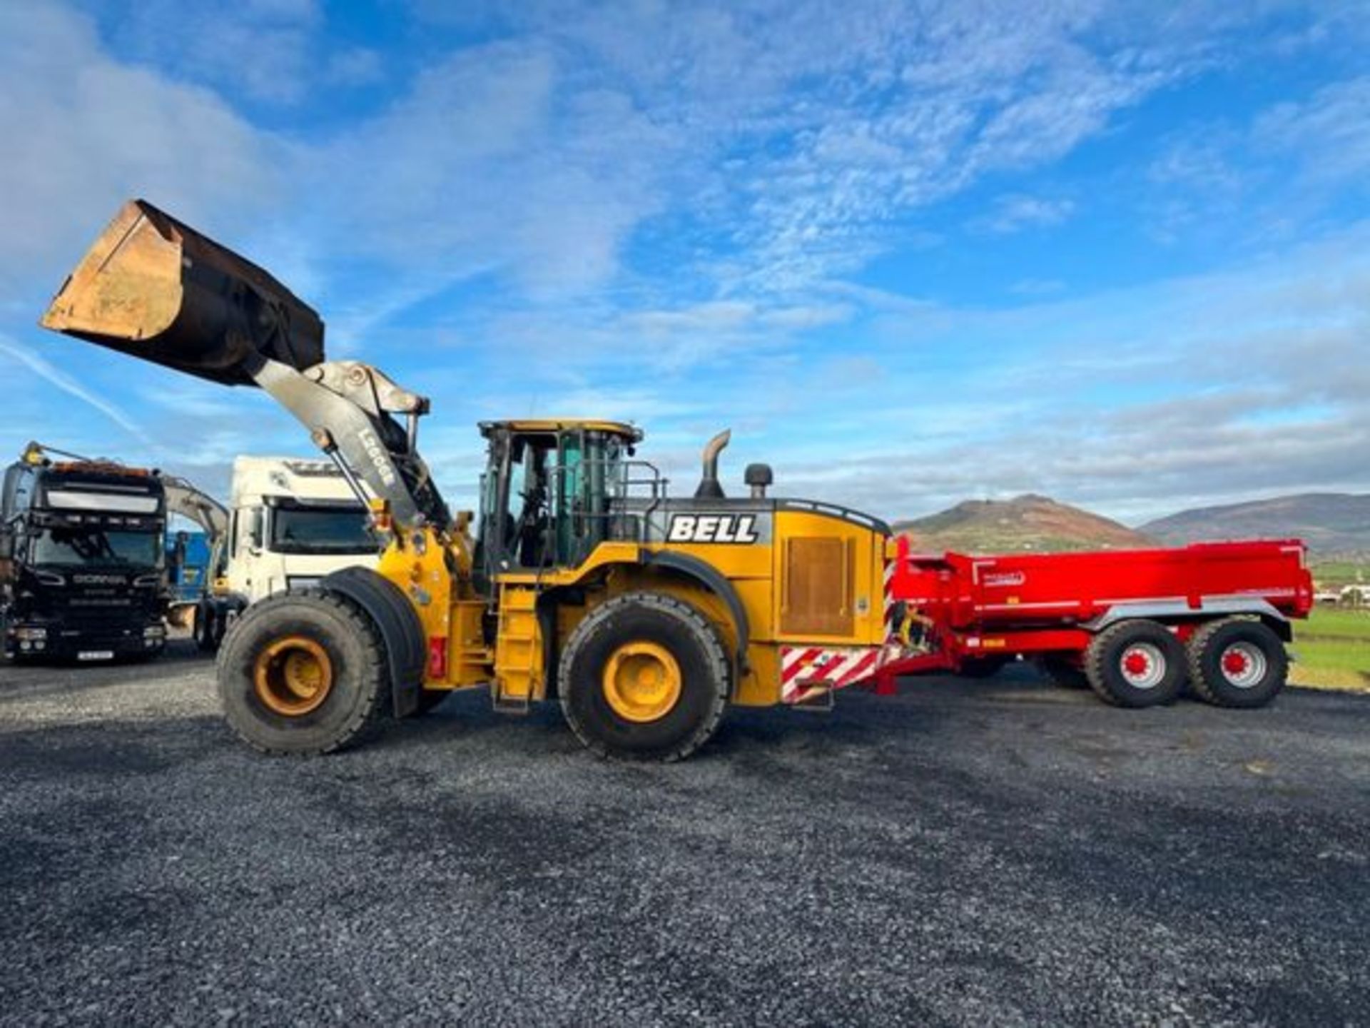
M 1312 607 L 1304 555 L 1295 539 L 986 556 L 912 554 L 901 539 L 888 596 L 903 655 L 875 684 L 1033 659 L 1119 706 L 1188 683 L 1210 703 L 1258 707 L 1284 688 L 1291 620 Z

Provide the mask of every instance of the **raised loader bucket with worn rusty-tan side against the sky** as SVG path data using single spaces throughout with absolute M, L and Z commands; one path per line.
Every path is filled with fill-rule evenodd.
M 38 323 L 225 385 L 251 385 L 262 356 L 323 360 L 312 307 L 145 200 L 119 208 Z

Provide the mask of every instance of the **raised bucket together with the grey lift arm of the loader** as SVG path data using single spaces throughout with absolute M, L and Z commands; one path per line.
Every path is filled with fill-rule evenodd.
M 369 365 L 325 360 L 314 308 L 145 200 L 123 204 L 40 323 L 214 382 L 260 387 L 359 496 L 358 480 L 388 503 L 396 528 L 448 526 L 416 445 L 427 399 Z

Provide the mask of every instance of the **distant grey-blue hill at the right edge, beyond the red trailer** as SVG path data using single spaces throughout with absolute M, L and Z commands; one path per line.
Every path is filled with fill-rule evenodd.
M 1296 536 L 1319 555 L 1370 554 L 1370 493 L 1310 492 L 1222 507 L 1197 507 L 1143 525 L 1170 543 Z

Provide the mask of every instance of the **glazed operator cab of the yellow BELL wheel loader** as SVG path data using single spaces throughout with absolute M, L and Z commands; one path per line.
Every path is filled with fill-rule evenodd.
M 611 499 L 643 432 L 611 421 L 482 422 L 475 573 L 574 567 L 611 536 Z

